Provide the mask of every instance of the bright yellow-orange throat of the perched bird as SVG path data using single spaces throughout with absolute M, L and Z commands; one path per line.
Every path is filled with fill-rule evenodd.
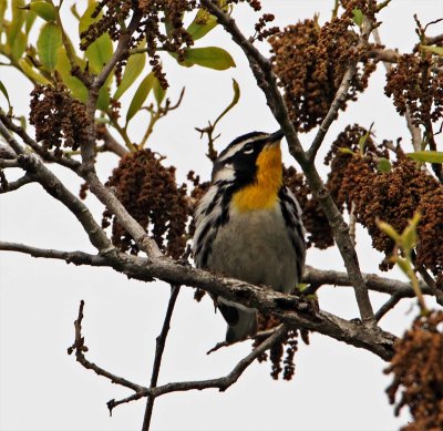
M 257 157 L 256 181 L 238 191 L 233 202 L 240 213 L 270 208 L 276 204 L 282 185 L 280 143 L 265 146 Z

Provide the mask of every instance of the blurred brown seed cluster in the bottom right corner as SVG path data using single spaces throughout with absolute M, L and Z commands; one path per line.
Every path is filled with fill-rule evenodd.
M 387 393 L 391 404 L 395 404 L 395 415 L 408 406 L 413 418 L 402 431 L 443 429 L 442 329 L 443 312 L 433 311 L 415 319 L 394 345 L 395 355 L 384 372 L 393 374 Z

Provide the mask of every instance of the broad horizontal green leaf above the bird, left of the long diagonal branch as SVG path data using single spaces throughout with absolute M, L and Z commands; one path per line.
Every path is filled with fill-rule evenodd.
M 172 55 L 177 59 L 176 54 Z M 226 70 L 236 65 L 229 52 L 218 47 L 188 48 L 185 50 L 185 60 L 178 64 L 186 68 L 197 64 L 215 70 Z

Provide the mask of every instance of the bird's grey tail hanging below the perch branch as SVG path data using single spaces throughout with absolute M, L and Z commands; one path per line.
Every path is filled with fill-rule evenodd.
M 217 306 L 228 324 L 226 341 L 235 342 L 257 332 L 257 310 L 218 297 Z

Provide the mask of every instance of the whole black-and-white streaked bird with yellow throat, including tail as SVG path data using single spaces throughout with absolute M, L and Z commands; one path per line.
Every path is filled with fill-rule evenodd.
M 219 154 L 196 209 L 193 252 L 198 268 L 288 294 L 301 279 L 306 245 L 300 206 L 282 182 L 282 137 L 248 133 Z M 228 342 L 256 333 L 257 310 L 222 297 L 217 307 Z

